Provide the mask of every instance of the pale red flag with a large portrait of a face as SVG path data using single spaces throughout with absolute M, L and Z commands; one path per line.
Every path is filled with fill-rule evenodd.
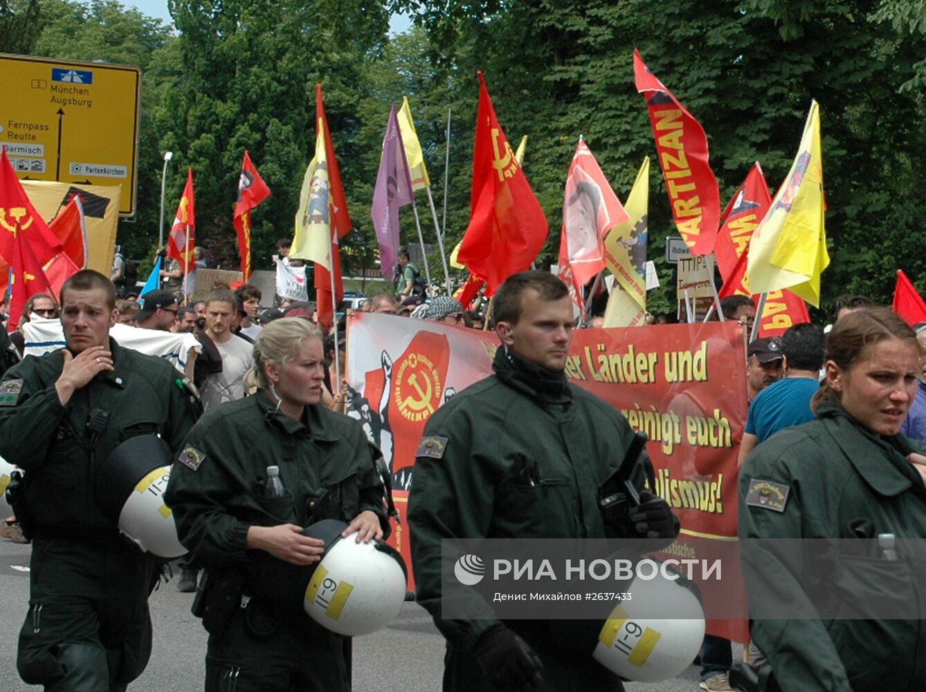
M 607 232 L 629 219 L 591 149 L 580 140 L 566 179 L 558 270 L 580 310 L 582 287 L 605 269 Z

